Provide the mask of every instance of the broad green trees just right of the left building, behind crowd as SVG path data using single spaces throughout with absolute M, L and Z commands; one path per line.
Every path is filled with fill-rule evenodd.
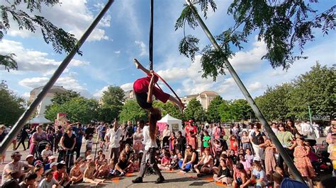
M 99 113 L 99 103 L 94 99 L 86 99 L 76 97 L 68 100 L 62 105 L 54 103 L 47 108 L 45 117 L 54 121 L 57 118 L 57 113 L 67 113 L 67 119 L 70 122 L 81 122 L 89 124 L 91 120 L 97 120 Z

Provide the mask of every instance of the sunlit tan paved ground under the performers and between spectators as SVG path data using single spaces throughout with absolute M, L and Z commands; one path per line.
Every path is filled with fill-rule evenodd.
M 318 143 L 322 143 L 325 138 L 317 139 Z M 82 148 L 85 148 L 83 146 Z M 92 151 L 92 156 L 94 156 L 94 150 Z M 22 154 L 22 160 L 26 159 L 28 155 L 28 150 L 23 151 L 22 146 L 18 148 L 17 151 L 20 151 Z M 13 147 L 11 146 L 6 151 L 6 160 L 5 164 L 11 161 L 11 153 L 13 152 Z M 84 150 L 82 149 L 82 152 Z M 106 156 L 108 152 L 104 151 Z M 5 165 L 4 164 L 4 165 Z M 4 165 L 0 165 L 0 176 L 4 170 Z M 138 176 L 138 173 L 128 174 L 125 177 L 114 177 L 111 180 L 106 180 L 104 184 L 99 185 L 99 187 L 194 187 L 194 186 L 206 186 L 206 187 L 224 187 L 222 184 L 216 184 L 213 182 L 212 177 L 201 177 L 197 178 L 196 173 L 186 173 L 185 175 L 179 174 L 179 170 L 175 171 L 162 171 L 162 175 L 166 181 L 162 184 L 155 184 L 157 180 L 157 175 L 148 175 L 144 177 L 144 182 L 142 184 L 133 184 L 132 180 Z M 0 179 L 1 180 L 1 179 Z M 74 187 L 96 187 L 92 184 L 78 184 Z

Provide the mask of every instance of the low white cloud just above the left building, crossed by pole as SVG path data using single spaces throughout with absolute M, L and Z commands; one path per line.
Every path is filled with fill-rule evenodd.
M 22 81 L 18 82 L 18 85 L 24 86 L 27 88 L 38 88 L 40 86 L 45 86 L 45 83 L 49 81 L 47 77 L 33 77 L 33 78 L 24 78 Z M 75 90 L 86 98 L 90 98 L 91 94 L 89 91 L 82 86 L 76 78 L 72 76 L 64 76 L 57 79 L 55 86 L 63 86 L 67 90 Z

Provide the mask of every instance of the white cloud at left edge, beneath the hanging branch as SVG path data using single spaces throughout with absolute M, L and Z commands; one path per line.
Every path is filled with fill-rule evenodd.
M 49 54 L 45 52 L 35 51 L 33 49 L 26 49 L 21 42 L 13 40 L 0 41 L 0 53 L 9 54 L 14 53 L 14 59 L 18 62 L 18 71 L 33 71 L 43 74 L 44 76 L 53 74 L 61 61 L 55 59 L 48 59 Z M 89 62 L 72 59 L 69 67 L 87 66 Z M 68 70 L 68 69 L 67 69 Z

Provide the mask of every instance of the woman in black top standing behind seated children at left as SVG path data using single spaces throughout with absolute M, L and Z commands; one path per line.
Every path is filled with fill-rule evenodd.
M 61 157 L 65 158 L 65 163 L 68 165 L 69 160 L 71 161 L 72 153 L 74 151 L 74 146 L 76 146 L 76 136 L 73 134 L 72 127 L 67 129 L 67 132 L 63 134 L 61 138 L 61 146 L 63 148 L 62 153 L 60 152 Z M 59 156 L 60 157 L 60 156 Z

